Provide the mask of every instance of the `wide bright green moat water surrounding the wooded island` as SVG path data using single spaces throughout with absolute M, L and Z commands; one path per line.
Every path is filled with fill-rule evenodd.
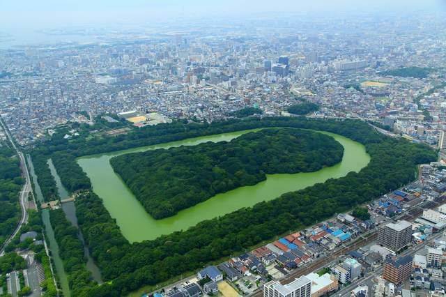
M 93 191 L 103 200 L 105 208 L 112 215 L 112 218 L 116 219 L 118 226 L 121 227 L 123 236 L 130 242 L 139 242 L 157 238 L 162 234 L 185 230 L 202 220 L 225 215 L 243 207 L 254 206 L 261 201 L 275 199 L 286 192 L 307 188 L 316 183 L 323 183 L 329 178 L 346 176 L 348 172 L 359 172 L 370 161 L 370 156 L 366 153 L 362 144 L 341 135 L 321 132 L 332 136 L 344 146 L 344 157 L 337 165 L 325 167 L 317 172 L 269 174 L 266 181 L 215 195 L 196 206 L 184 209 L 178 214 L 162 220 L 155 220 L 146 213 L 144 207 L 114 172 L 109 162 L 116 155 L 125 153 L 176 146 L 194 146 L 203 142 L 228 142 L 240 135 L 256 130 L 259 129 L 196 137 L 178 142 L 91 155 L 79 158 L 77 162 L 91 179 Z

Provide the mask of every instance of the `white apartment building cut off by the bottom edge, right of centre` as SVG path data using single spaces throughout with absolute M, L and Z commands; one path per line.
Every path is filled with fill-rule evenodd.
M 281 284 L 277 280 L 267 282 L 263 286 L 263 297 L 311 297 L 312 281 L 302 276 L 289 284 Z

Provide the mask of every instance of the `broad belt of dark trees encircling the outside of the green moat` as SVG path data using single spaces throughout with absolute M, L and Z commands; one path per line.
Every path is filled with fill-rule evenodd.
M 360 172 L 204 220 L 187 230 L 132 244 L 123 237 L 100 197 L 91 189 L 86 190 L 75 201 L 76 214 L 105 283 L 88 287 L 79 296 L 124 296 L 144 285 L 155 286 L 182 273 L 193 273 L 210 262 L 243 253 L 289 230 L 305 228 L 334 213 L 351 211 L 355 206 L 413 181 L 417 164 L 436 160 L 436 152 L 431 148 L 385 137 L 362 121 L 305 117 L 249 118 L 202 124 L 175 122 L 118 137 L 71 142 L 58 138 L 38 146 L 32 153 L 33 158 L 44 159 L 51 158 L 57 151 L 80 157 L 190 137 L 273 127 L 306 128 L 343 135 L 364 144 L 371 160 Z M 64 163 L 65 167 L 79 167 L 74 158 L 69 160 Z

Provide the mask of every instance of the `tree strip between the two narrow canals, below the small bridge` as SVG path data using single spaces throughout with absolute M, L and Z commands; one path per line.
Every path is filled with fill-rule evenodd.
M 86 296 L 86 291 L 97 285 L 86 269 L 84 245 L 79 239 L 77 227 L 67 220 L 62 209 L 50 213 L 54 237 L 59 244 L 63 268 L 68 274 L 68 283 L 73 296 Z

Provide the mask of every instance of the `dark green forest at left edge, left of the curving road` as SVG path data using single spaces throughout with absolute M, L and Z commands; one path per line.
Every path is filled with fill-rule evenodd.
M 19 195 L 24 183 L 20 161 L 0 142 L 0 245 L 10 236 L 20 217 Z

